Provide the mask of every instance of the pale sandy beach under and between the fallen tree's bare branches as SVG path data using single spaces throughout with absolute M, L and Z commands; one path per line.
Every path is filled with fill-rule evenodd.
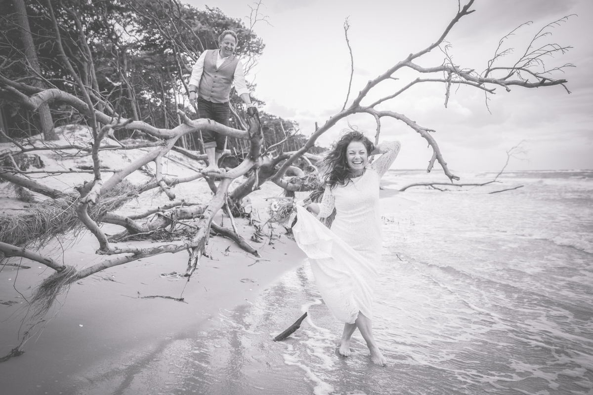
M 80 130 L 69 131 L 71 133 L 66 132 L 65 139 L 71 141 L 89 137 Z M 138 151 L 104 152 L 101 159 L 104 165 L 117 168 L 122 161 L 129 162 L 142 153 L 142 150 Z M 46 169 L 68 169 L 90 164 L 87 163 L 90 158 L 63 160 L 44 152 L 40 156 Z M 165 171 L 169 175 L 189 175 L 196 169 L 195 162 L 176 153 L 171 152 L 168 159 Z M 67 190 L 90 178 L 90 174 L 68 174 L 46 178 L 44 182 Z M 132 182 L 142 182 L 145 178 L 141 174 L 129 177 Z M 34 205 L 18 201 L 15 191 L 7 184 L 2 188 L 1 214 L 22 213 Z M 212 195 L 203 180 L 178 185 L 175 192 L 187 201 L 207 202 Z M 264 224 L 267 216 L 265 198 L 280 193 L 279 187 L 266 183 L 248 198 L 260 225 Z M 40 200 L 42 197 L 34 195 L 34 198 Z M 121 213 L 144 211 L 167 202 L 164 195 L 149 192 L 138 201 L 126 204 Z M 223 218 L 221 213 L 215 221 L 230 227 L 228 217 Z M 235 221 L 241 236 L 249 240 L 256 229 L 246 219 Z M 103 230 L 112 234 L 122 228 L 107 224 Z M 221 309 L 250 303 L 260 290 L 283 272 L 302 265 L 304 259 L 304 254 L 286 237 L 282 226 L 266 225 L 263 232 L 267 235 L 266 239 L 259 243 L 249 241 L 260 253 L 260 258 L 243 251 L 232 240 L 212 236 L 206 248 L 209 256 L 202 258 L 189 281 L 183 277 L 187 252 L 141 259 L 77 281 L 46 314 L 47 322 L 25 344 L 25 353 L 0 365 L 2 387 L 11 394 L 57 393 L 56 388 L 78 380 L 75 377 L 84 381 L 85 372 L 97 365 L 108 367 L 132 360 L 139 353 L 158 349 L 171 338 L 190 336 Z M 90 232 L 82 232 L 76 239 L 71 235 L 60 237 L 40 252 L 57 256 L 58 261 L 63 260 L 65 264 L 80 269 L 104 259 L 95 255 L 97 248 L 94 236 Z M 3 356 L 18 345 L 20 336 L 27 329 L 22 320 L 32 287 L 53 272 L 27 259 L 11 258 L 7 262 L 19 262 L 30 268 L 0 266 L 0 354 Z M 172 298 L 183 298 L 183 301 Z

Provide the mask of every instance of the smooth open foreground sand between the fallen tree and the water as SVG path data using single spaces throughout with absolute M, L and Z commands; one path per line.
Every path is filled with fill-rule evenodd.
M 245 220 L 238 220 L 237 226 L 246 239 L 254 232 Z M 267 226 L 264 229 L 269 234 Z M 275 226 L 274 233 L 283 234 L 285 230 Z M 66 249 L 65 262 L 93 264 L 100 259 L 94 255 L 95 243 L 92 236 L 85 235 Z M 283 272 L 297 268 L 305 258 L 286 235 L 272 244 L 269 239 L 250 243 L 261 258 L 247 254 L 232 240 L 211 237 L 206 249 L 210 258 L 202 258 L 189 282 L 171 274 L 185 272 L 188 255 L 179 252 L 116 266 L 72 284 L 46 315 L 49 322 L 43 330 L 25 344 L 25 353 L 0 364 L 2 392 L 77 393 L 79 384 L 92 380 L 87 373 L 103 371 L 113 374 L 113 380 L 107 380 L 113 387 L 104 388 L 102 384 L 95 388 L 97 393 L 118 393 L 125 377 L 133 377 L 142 364 L 150 363 L 158 349 L 176 338 L 192 337 L 219 311 L 250 303 L 263 288 Z M 50 269 L 40 268 L 36 262 L 26 264 L 31 268 L 4 266 L 0 272 L 0 302 L 17 302 L 0 305 L 2 355 L 18 345 L 26 308 L 23 296 L 31 293 L 28 286 L 50 274 Z M 184 301 L 142 298 L 147 296 L 183 296 Z M 128 370 L 127 374 L 119 369 L 111 372 L 116 366 Z

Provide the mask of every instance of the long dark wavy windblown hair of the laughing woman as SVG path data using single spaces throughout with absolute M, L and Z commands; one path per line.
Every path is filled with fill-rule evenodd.
M 340 139 L 332 144 L 330 152 L 323 159 L 328 169 L 325 181 L 330 188 L 334 188 L 336 185 L 347 185 L 350 182 L 352 170 L 348 166 L 346 159 L 346 151 L 350 143 L 362 142 L 365 144 L 368 155 L 371 155 L 371 152 L 375 149 L 375 144 L 360 131 L 349 129 L 344 131 L 346 133 L 342 134 Z

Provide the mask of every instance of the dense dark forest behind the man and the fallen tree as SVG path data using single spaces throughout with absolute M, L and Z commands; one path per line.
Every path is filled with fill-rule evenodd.
M 237 33 L 235 54 L 243 61 L 247 76 L 265 47 L 252 26 L 228 17 L 219 8 L 197 9 L 176 0 L 51 0 L 50 3 L 65 53 L 84 79 L 97 108 L 110 106 L 117 114 L 157 128 L 171 129 L 181 124 L 177 108 L 190 118 L 197 118 L 195 108 L 187 100 L 189 76 L 200 53 L 218 48 L 218 35 L 222 31 Z M 25 18 L 22 8 L 26 11 Z M 60 58 L 47 1 L 0 0 L 0 9 L 8 11 L 0 19 L 0 78 L 40 88 L 58 88 L 80 97 L 78 86 L 72 83 L 71 73 Z M 28 26 L 23 26 L 27 23 Z M 27 48 L 23 28 L 30 31 L 33 48 Z M 257 99 L 256 86 L 248 83 L 248 89 L 252 101 L 262 107 L 264 102 Z M 231 94 L 229 126 L 246 130 L 246 114 L 240 102 L 237 95 Z M 55 139 L 52 126 L 88 121 L 63 102 L 49 104 L 51 126 L 43 125 L 43 115 L 40 119 L 18 102 L 0 98 L 0 107 L 0 126 L 15 138 L 43 130 L 46 139 L 51 140 Z M 265 144 L 276 144 L 292 134 L 282 149 L 297 150 L 307 141 L 298 133 L 295 121 L 264 111 L 259 115 Z M 115 135 L 124 138 L 133 133 L 117 130 Z M 196 137 L 197 134 L 188 134 L 176 145 L 200 150 Z M 231 137 L 227 148 L 241 157 L 248 151 L 248 144 Z

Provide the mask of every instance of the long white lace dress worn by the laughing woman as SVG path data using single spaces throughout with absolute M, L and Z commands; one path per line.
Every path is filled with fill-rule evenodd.
M 361 311 L 372 320 L 377 264 L 381 260 L 379 181 L 400 152 L 400 142 L 384 142 L 382 154 L 363 175 L 347 185 L 326 187 L 318 218 L 336 218 L 327 229 L 303 207 L 297 207 L 293 227 L 299 248 L 310 258 L 315 282 L 331 313 L 354 323 Z

